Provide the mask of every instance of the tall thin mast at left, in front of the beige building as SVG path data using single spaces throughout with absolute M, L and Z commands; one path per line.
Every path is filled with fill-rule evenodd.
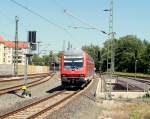
M 15 52 L 14 52 L 14 75 L 18 75 L 18 16 L 15 17 L 16 30 L 15 30 Z

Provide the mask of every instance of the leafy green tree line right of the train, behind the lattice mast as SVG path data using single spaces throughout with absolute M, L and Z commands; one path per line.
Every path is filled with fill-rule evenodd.
M 127 35 L 114 39 L 115 71 L 134 72 L 135 62 L 137 72 L 150 74 L 150 43 L 134 35 Z M 107 70 L 107 57 L 110 57 L 111 41 L 107 40 L 104 46 L 89 45 L 82 49 L 93 57 L 97 70 Z

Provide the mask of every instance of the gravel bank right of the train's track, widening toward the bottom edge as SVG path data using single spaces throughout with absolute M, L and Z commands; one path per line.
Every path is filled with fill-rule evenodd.
M 97 119 L 100 112 L 94 96 L 97 84 L 98 80 L 95 79 L 89 91 L 74 98 L 73 101 L 53 112 L 46 119 Z

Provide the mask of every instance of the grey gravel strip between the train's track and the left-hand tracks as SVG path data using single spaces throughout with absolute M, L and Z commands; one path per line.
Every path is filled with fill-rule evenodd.
M 11 111 L 16 107 L 28 104 L 35 99 L 39 99 L 43 96 L 49 95 L 49 91 L 55 87 L 59 87 L 60 84 L 61 82 L 59 75 L 56 74 L 48 82 L 29 88 L 32 94 L 31 97 L 21 98 L 21 91 L 12 94 L 10 93 L 0 95 L 0 115 L 5 112 Z

